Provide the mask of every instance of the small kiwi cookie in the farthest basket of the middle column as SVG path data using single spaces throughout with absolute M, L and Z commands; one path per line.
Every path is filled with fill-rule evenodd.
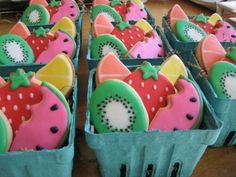
M 94 21 L 96 16 L 100 13 L 105 13 L 111 22 L 115 22 L 118 24 L 122 21 L 120 14 L 118 12 L 116 12 L 115 9 L 113 9 L 112 7 L 110 7 L 108 5 L 104 5 L 104 4 L 97 5 L 92 8 L 91 20 Z

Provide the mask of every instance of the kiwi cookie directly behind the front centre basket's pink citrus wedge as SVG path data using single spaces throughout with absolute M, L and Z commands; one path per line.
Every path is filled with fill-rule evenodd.
M 99 60 L 113 52 L 118 58 L 127 58 L 128 50 L 124 43 L 110 34 L 102 34 L 94 38 L 91 42 L 92 57 Z

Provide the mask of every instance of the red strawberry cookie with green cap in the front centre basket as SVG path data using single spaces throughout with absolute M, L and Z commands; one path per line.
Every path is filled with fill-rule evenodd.
M 145 62 L 124 80 L 140 95 L 150 121 L 159 108 L 166 106 L 167 96 L 175 93 L 174 86 L 159 71 L 159 66 Z

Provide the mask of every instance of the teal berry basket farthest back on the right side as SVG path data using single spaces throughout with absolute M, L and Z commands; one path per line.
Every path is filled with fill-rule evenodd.
M 170 45 L 173 47 L 173 49 L 179 51 L 179 52 L 186 52 L 186 51 L 195 51 L 198 42 L 182 42 L 179 41 L 176 37 L 176 35 L 171 30 L 166 16 L 162 18 L 162 27 L 164 29 L 166 38 L 168 39 Z M 233 45 L 233 43 L 230 42 L 221 42 L 221 45 L 224 48 L 228 48 Z

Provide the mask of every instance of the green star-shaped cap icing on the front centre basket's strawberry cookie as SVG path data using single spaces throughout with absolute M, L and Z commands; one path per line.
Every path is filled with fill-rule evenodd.
M 145 62 L 140 66 L 140 70 L 143 73 L 143 79 L 148 79 L 152 77 L 154 80 L 158 79 L 158 72 L 161 70 L 160 66 L 154 67 L 149 62 Z

